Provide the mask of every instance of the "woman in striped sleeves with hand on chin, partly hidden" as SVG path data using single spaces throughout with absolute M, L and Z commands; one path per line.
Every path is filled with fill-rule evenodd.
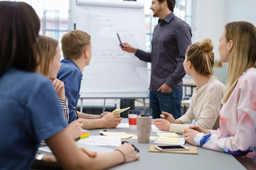
M 38 66 L 38 73 L 44 74 L 52 82 L 56 94 L 58 95 L 60 106 L 63 109 L 63 116 L 68 123 L 69 109 L 68 98 L 65 97 L 65 87 L 63 81 L 57 79 L 57 73 L 60 69 L 60 47 L 58 41 L 44 35 L 38 35 L 38 45 L 41 52 L 41 63 Z M 68 125 L 74 139 L 82 134 L 82 120 L 78 119 Z

